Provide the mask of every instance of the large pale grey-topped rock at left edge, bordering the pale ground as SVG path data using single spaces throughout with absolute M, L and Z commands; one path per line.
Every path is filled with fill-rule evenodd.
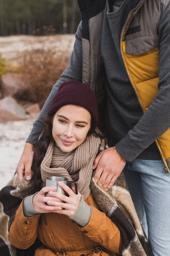
M 20 121 L 26 119 L 25 110 L 12 97 L 0 100 L 0 122 Z

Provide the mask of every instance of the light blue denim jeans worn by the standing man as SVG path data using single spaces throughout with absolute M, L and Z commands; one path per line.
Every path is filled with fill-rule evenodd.
M 136 159 L 124 174 L 154 256 L 170 256 L 170 176 L 164 163 Z

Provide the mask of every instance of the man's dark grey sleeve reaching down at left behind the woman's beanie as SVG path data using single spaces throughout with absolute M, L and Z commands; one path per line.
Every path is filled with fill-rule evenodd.
M 26 142 L 36 144 L 38 137 L 40 136 L 42 129 L 43 129 L 43 121 L 45 115 L 48 112 L 48 109 L 51 106 L 52 99 L 54 95 L 57 93 L 60 84 L 64 81 L 68 80 L 77 80 L 82 81 L 82 22 L 80 22 L 76 35 L 75 35 L 75 42 L 74 42 L 74 49 L 70 57 L 70 61 L 66 70 L 62 73 L 61 78 L 54 84 L 53 89 L 51 90 L 48 99 L 43 106 L 40 115 L 38 116 L 37 120 L 33 124 L 33 128 L 31 133 L 29 134 L 28 139 Z

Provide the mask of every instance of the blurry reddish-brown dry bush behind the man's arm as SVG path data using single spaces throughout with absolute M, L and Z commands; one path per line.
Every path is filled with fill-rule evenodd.
M 68 65 L 70 52 L 57 52 L 56 49 L 32 49 L 22 52 L 18 69 L 22 73 L 24 88 L 17 93 L 17 100 L 38 102 L 44 105 L 53 85 Z

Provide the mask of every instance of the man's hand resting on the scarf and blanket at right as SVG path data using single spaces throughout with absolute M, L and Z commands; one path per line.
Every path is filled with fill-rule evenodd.
M 115 147 L 102 151 L 94 160 L 93 169 L 96 169 L 94 180 L 98 180 L 104 190 L 108 190 L 121 174 L 126 160 L 118 153 Z

